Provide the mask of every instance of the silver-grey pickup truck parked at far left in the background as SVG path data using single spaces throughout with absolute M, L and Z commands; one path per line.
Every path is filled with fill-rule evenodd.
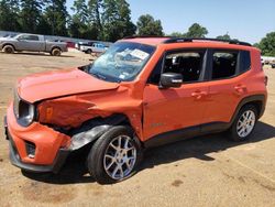
M 59 56 L 62 52 L 67 52 L 66 43 L 48 42 L 44 35 L 18 34 L 14 37 L 0 37 L 0 50 L 6 53 L 21 51 L 46 52 L 54 56 Z

